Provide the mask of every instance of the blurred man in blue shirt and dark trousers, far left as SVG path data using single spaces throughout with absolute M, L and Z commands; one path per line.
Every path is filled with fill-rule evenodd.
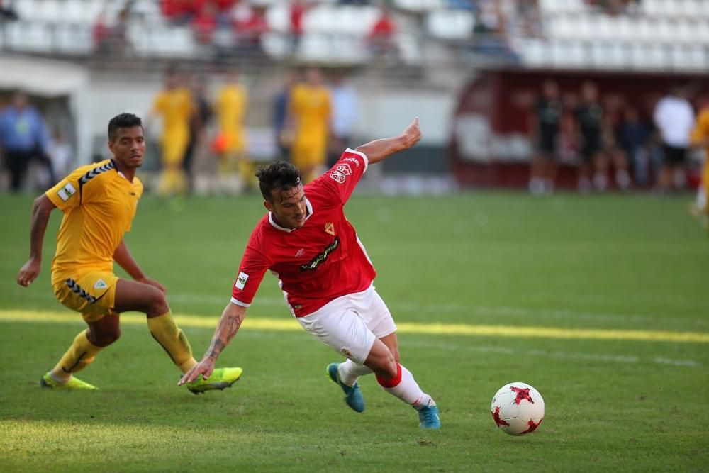
M 13 94 L 12 102 L 0 112 L 0 151 L 6 169 L 11 174 L 11 189 L 18 192 L 30 162 L 37 161 L 46 174 L 40 186 L 46 189 L 54 183 L 48 160 L 49 135 L 39 111 L 28 103 L 22 91 Z

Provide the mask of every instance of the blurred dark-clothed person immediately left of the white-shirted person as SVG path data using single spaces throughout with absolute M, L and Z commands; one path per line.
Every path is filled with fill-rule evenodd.
M 620 123 L 618 140 L 632 166 L 633 179 L 640 186 L 647 186 L 651 180 L 651 160 L 649 139 L 652 126 L 640 118 L 637 108 L 625 108 L 623 123 Z

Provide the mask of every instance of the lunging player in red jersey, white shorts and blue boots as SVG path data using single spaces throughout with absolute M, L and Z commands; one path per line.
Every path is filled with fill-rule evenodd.
M 328 172 L 306 186 L 287 162 L 273 162 L 257 172 L 269 212 L 247 243 L 231 301 L 208 351 L 179 384 L 209 376 L 271 270 L 296 320 L 347 358 L 330 364 L 328 375 L 342 388 L 350 408 L 364 411 L 357 379 L 374 372 L 387 392 L 418 411 L 420 427 L 440 428 L 435 402 L 399 363 L 396 324 L 374 290 L 376 272 L 342 210 L 367 166 L 411 148 L 420 138 L 415 118 L 399 136 L 345 150 Z

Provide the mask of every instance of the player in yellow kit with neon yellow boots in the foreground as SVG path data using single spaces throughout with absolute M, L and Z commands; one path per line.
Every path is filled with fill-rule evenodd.
M 55 389 L 96 389 L 74 377 L 121 334 L 119 316 L 125 311 L 147 315 L 147 327 L 177 367 L 186 373 L 196 365 L 184 333 L 177 327 L 165 299 L 165 289 L 140 269 L 123 235 L 130 230 L 143 184 L 135 170 L 143 164 L 143 125 L 135 115 L 122 113 L 108 123 L 108 149 L 113 158 L 79 167 L 35 199 L 30 232 L 30 259 L 17 282 L 29 286 L 38 277 L 42 244 L 50 213 L 64 213 L 52 262 L 52 287 L 57 299 L 82 314 L 82 330 L 57 365 L 40 383 Z M 133 281 L 113 274 L 113 261 Z M 195 394 L 224 389 L 241 376 L 241 368 L 222 368 L 216 377 L 199 380 L 188 389 Z

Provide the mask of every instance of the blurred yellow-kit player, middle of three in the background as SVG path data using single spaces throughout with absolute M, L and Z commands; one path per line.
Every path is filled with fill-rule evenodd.
M 247 92 L 239 82 L 239 74 L 230 72 L 227 81 L 218 91 L 215 111 L 219 124 L 219 139 L 221 140 L 219 177 L 220 181 L 228 181 L 233 166 L 247 187 L 255 184 L 253 163 L 246 154 L 246 133 L 244 120 L 246 118 Z

